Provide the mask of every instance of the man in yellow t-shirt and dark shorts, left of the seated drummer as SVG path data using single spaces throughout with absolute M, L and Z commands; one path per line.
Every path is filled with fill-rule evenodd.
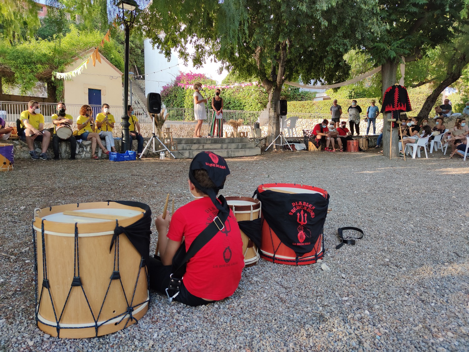
M 26 141 L 30 150 L 31 159 L 50 160 L 46 154 L 49 143 L 51 142 L 51 132 L 44 130 L 44 115 L 41 114 L 41 108 L 36 100 L 30 100 L 28 110 L 21 113 L 21 128 L 23 132 L 20 138 Z M 34 150 L 34 141 L 41 142 L 41 154 Z

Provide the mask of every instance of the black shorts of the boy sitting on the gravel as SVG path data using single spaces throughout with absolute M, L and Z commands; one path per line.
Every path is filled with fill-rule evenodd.
M 169 286 L 169 275 L 171 275 L 172 265 L 163 265 L 160 260 L 150 257 L 149 263 L 147 263 L 147 268 L 150 279 L 150 288 L 164 294 L 165 297 L 167 297 L 166 289 Z M 187 291 L 186 287 L 184 286 L 184 282 L 182 282 L 181 290 L 174 298 L 174 300 L 194 307 L 214 302 L 206 301 L 205 299 L 194 296 L 192 293 Z

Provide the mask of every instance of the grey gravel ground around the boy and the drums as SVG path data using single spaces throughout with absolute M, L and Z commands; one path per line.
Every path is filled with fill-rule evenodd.
M 81 340 L 42 333 L 33 320 L 33 208 L 135 199 L 157 214 L 167 192 L 176 207 L 192 199 L 189 162 L 17 161 L 0 174 L 0 351 L 469 351 L 469 164 L 441 153 L 406 162 L 372 152 L 230 159 L 224 195 L 251 196 L 275 181 L 329 191 L 330 272 L 261 260 L 221 302 L 169 305 L 152 293 L 148 313 L 128 329 Z M 122 189 L 101 189 L 120 177 Z M 365 236 L 335 250 L 337 228 L 347 225 Z

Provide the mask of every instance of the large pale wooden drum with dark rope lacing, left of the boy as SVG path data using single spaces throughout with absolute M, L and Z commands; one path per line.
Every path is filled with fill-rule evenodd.
M 126 227 L 143 216 L 144 209 L 116 202 L 35 209 L 39 329 L 54 337 L 96 337 L 125 329 L 146 313 L 142 255 L 123 233 L 110 248 L 116 222 Z

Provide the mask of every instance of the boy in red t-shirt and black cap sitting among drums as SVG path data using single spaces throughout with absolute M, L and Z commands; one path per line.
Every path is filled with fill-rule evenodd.
M 215 153 L 198 153 L 192 160 L 189 191 L 195 200 L 177 209 L 173 216 L 167 212 L 165 219 L 160 215 L 155 220 L 161 261 L 155 257 L 148 263 L 150 287 L 154 290 L 189 306 L 200 306 L 227 298 L 238 287 L 244 268 L 241 233 L 226 200 L 221 195 L 216 198 L 229 173 L 226 161 Z M 223 217 L 227 218 L 225 222 L 219 220 Z M 197 241 L 210 238 L 205 230 L 209 228 L 213 237 L 187 261 L 183 277 L 173 275 L 179 271 L 176 269 L 185 254 L 184 248 L 180 249 L 182 240 L 189 252 L 199 235 Z M 173 286 L 167 290 L 170 283 L 173 285 L 172 278 L 183 278 L 176 280 L 179 290 L 173 290 Z

